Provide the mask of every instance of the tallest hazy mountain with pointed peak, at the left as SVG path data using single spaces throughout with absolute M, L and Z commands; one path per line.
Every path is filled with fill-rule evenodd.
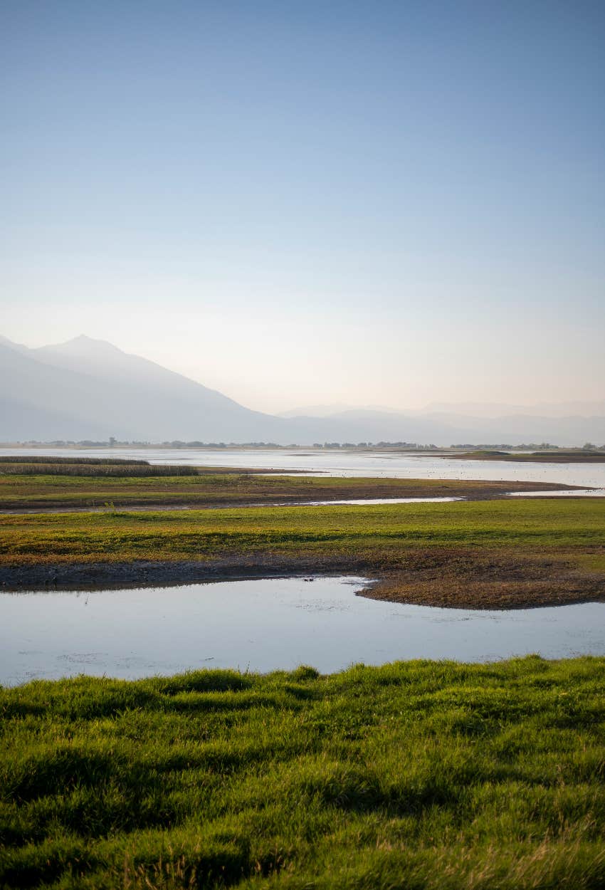
M 1 441 L 254 441 L 286 424 L 86 336 L 30 350 L 3 339 L 0 375 Z

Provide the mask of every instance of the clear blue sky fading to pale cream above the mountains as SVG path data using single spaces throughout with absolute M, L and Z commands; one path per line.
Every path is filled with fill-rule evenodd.
M 0 0 L 0 334 L 277 412 L 605 398 L 605 4 Z

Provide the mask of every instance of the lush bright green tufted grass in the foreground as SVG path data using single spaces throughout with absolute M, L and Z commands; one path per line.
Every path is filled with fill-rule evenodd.
M 605 885 L 605 659 L 0 691 L 0 886 Z

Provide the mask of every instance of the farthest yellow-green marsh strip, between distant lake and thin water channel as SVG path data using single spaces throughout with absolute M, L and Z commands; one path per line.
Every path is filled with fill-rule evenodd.
M 18 468 L 19 465 L 14 465 L 15 473 Z M 92 477 L 85 474 L 87 467 L 82 473 L 77 467 L 73 469 L 77 474 L 44 475 L 38 467 L 37 474 L 3 475 L 4 465 L 0 464 L 0 509 L 102 507 L 109 503 L 114 506 L 215 506 L 343 498 L 494 498 L 508 491 L 548 492 L 569 487 L 540 482 L 211 473 L 203 467 L 185 467 L 189 475 L 164 473 L 160 479 L 139 473 L 137 466 L 118 467 L 118 472 L 126 475 L 115 478 L 110 473 L 100 475 L 97 471 L 104 469 L 102 467 L 93 467 Z M 112 469 L 109 465 L 108 470 Z M 170 467 L 159 469 L 169 471 Z

